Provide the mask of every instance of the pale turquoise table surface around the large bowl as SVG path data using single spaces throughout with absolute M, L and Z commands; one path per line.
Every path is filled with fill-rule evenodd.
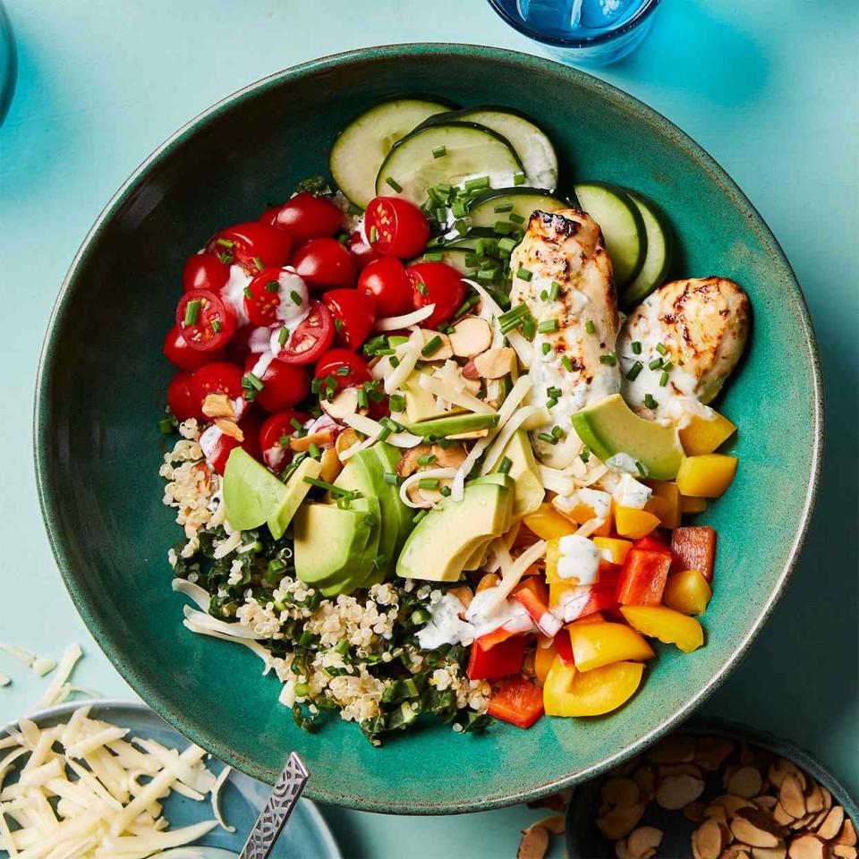
M 856 795 L 859 9 L 855 0 L 662 5 L 642 48 L 600 76 L 691 134 L 759 208 L 803 285 L 828 381 L 826 463 L 803 560 L 750 655 L 703 712 L 793 740 Z M 6 547 L 0 641 L 55 656 L 79 641 L 86 658 L 74 682 L 131 695 L 89 638 L 56 572 L 32 467 L 30 412 L 42 336 L 89 225 L 151 149 L 218 98 L 269 72 L 390 42 L 539 48 L 507 30 L 482 0 L 6 0 L 6 6 L 20 70 L 0 127 Z M 789 385 L 774 369 L 772 395 Z M 133 594 L 128 605 L 133 611 Z M 13 677 L 13 685 L 0 689 L 5 722 L 28 710 L 46 681 L 2 652 L 0 672 Z M 345 855 L 413 859 L 512 856 L 518 830 L 542 816 L 524 807 L 444 820 L 324 812 Z M 557 844 L 553 855 L 562 852 Z

